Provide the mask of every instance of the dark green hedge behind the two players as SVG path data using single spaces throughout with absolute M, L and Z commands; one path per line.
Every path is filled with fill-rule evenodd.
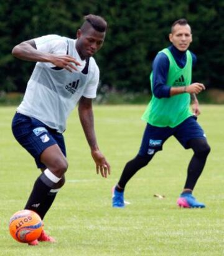
M 15 59 L 12 47 L 45 34 L 75 38 L 83 16 L 90 13 L 108 22 L 105 44 L 95 56 L 101 88 L 148 91 L 152 61 L 169 46 L 170 26 L 182 17 L 192 27 L 190 50 L 198 58 L 193 80 L 222 88 L 223 9 L 224 2 L 215 0 L 1 1 L 0 91 L 24 92 L 34 68 L 32 62 Z

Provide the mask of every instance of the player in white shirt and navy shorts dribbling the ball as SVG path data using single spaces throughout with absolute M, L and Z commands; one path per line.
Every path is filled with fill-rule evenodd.
M 105 178 L 110 174 L 110 164 L 96 141 L 92 109 L 100 76 L 92 56 L 103 46 L 107 23 L 93 14 L 84 19 L 75 40 L 47 35 L 21 42 L 12 49 L 13 56 L 37 62 L 12 120 L 12 132 L 42 170 L 25 206 L 42 219 L 65 184 L 68 162 L 62 134 L 77 104 L 96 173 Z M 55 239 L 43 231 L 30 245 L 39 241 Z

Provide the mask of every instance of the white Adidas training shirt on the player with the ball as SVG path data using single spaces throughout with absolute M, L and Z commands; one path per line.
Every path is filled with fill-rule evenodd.
M 17 112 L 34 117 L 62 133 L 66 120 L 80 97 L 95 98 L 100 72 L 93 57 L 82 61 L 75 47 L 76 40 L 57 35 L 35 38 L 37 49 L 52 54 L 75 57 L 82 67 L 80 72 L 55 70 L 52 63 L 37 62 L 27 83 L 24 99 Z

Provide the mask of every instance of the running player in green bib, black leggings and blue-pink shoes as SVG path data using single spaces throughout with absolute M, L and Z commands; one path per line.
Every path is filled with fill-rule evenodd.
M 125 165 L 118 184 L 113 188 L 113 207 L 124 207 L 124 188 L 127 182 L 149 163 L 157 151 L 162 150 L 162 145 L 172 135 L 185 149 L 192 149 L 194 152 L 177 205 L 185 208 L 205 207 L 205 204 L 198 202 L 192 195 L 205 166 L 210 146 L 197 122 L 200 110 L 196 94 L 205 90 L 205 86 L 199 82 L 191 82 L 196 56 L 188 50 L 192 32 L 187 20 L 179 19 L 172 24 L 169 40 L 172 45 L 158 52 L 152 64 L 152 99 L 142 116 L 147 122 L 146 129 L 138 154 Z

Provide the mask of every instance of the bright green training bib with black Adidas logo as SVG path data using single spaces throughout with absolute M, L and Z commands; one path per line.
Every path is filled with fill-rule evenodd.
M 169 72 L 166 84 L 172 87 L 189 86 L 192 79 L 192 55 L 187 51 L 187 62 L 185 67 L 180 68 L 175 62 L 169 49 L 163 49 L 169 59 Z M 153 71 L 151 72 L 151 88 L 152 88 Z M 152 90 L 153 91 L 153 90 Z M 183 93 L 169 98 L 158 99 L 152 92 L 152 99 L 142 116 L 142 120 L 148 122 L 152 126 L 157 127 L 175 127 L 178 126 L 188 117 L 192 116 L 190 111 L 190 94 Z

